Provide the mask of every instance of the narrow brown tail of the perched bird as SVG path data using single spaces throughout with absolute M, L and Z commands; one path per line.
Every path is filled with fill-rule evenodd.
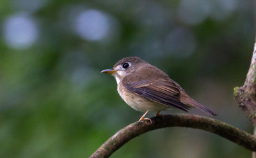
M 190 107 L 197 107 L 198 109 L 200 109 L 201 111 L 204 111 L 208 115 L 216 116 L 216 113 L 211 111 L 211 109 L 203 106 L 199 102 L 196 102 L 196 100 L 191 99 L 191 97 L 189 97 L 184 91 L 182 91 L 180 93 L 180 101 L 183 102 L 184 104 L 190 106 Z

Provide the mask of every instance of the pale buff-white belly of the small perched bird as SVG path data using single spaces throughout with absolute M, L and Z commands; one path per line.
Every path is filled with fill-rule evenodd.
M 131 91 L 128 91 L 126 88 L 124 88 L 124 86 L 122 86 L 121 84 L 118 85 L 118 93 L 129 106 L 137 111 L 157 112 L 164 111 L 170 108 L 170 106 L 159 104 L 157 102 L 154 102 L 153 100 L 147 99 L 146 97 L 141 97 L 136 93 L 132 93 Z

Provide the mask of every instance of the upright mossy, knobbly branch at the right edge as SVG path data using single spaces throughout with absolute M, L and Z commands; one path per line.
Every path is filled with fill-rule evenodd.
M 242 87 L 234 88 L 234 97 L 246 116 L 256 126 L 256 43 L 251 65 Z

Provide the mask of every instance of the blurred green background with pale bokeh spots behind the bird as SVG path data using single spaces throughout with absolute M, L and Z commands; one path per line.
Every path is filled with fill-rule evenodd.
M 253 1 L 1 0 L 0 17 L 0 157 L 89 157 L 136 122 L 143 113 L 119 97 L 114 77 L 100 74 L 127 56 L 164 70 L 214 118 L 253 131 L 233 99 L 255 42 Z M 132 139 L 111 157 L 251 152 L 175 127 Z

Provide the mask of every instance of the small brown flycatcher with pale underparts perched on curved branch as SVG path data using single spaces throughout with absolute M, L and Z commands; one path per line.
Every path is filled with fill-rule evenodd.
M 172 107 L 188 112 L 190 107 L 197 107 L 209 115 L 216 115 L 211 109 L 191 99 L 181 86 L 159 68 L 150 65 L 138 57 L 120 59 L 112 69 L 102 70 L 102 73 L 115 77 L 117 90 L 124 101 L 137 111 L 165 111 Z M 151 122 L 151 120 L 150 120 Z

